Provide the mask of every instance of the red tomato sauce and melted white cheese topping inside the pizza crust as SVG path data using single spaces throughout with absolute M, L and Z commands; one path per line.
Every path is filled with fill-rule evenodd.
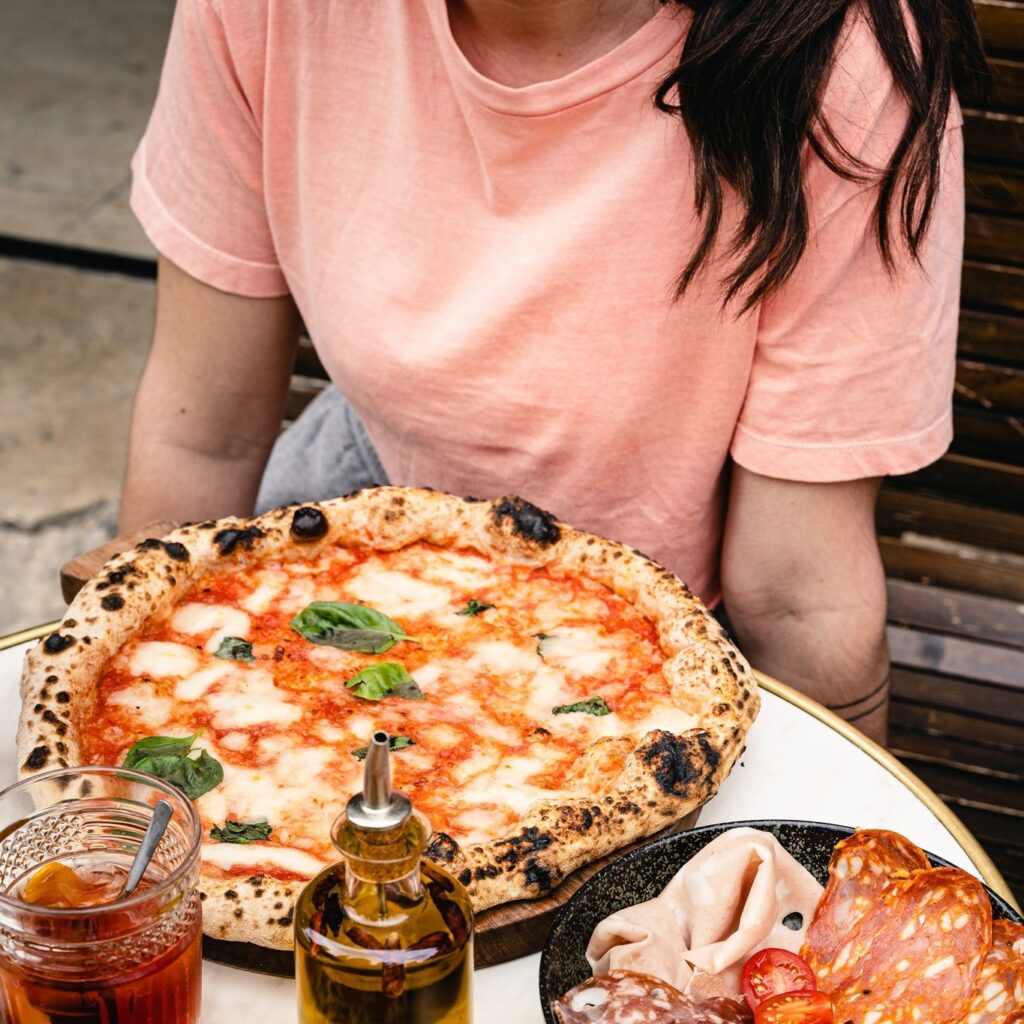
M 382 653 L 311 642 L 292 621 L 319 601 L 372 608 L 406 638 Z M 228 639 L 249 645 L 242 658 L 224 654 Z M 402 737 L 395 785 L 433 827 L 483 843 L 539 800 L 600 791 L 651 729 L 696 724 L 664 659 L 654 626 L 602 584 L 472 550 L 337 546 L 218 566 L 109 662 L 85 762 L 120 764 L 142 737 L 201 730 L 197 748 L 224 770 L 197 802 L 207 837 L 225 821 L 271 829 L 209 840 L 205 872 L 304 879 L 334 859 L 330 823 L 375 730 Z M 346 686 L 379 665 L 400 666 L 422 699 Z

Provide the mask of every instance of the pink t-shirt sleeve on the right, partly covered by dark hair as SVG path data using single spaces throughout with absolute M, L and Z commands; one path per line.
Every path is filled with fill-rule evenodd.
M 847 148 L 884 166 L 906 112 L 864 26 L 846 41 L 825 114 Z M 954 104 L 920 265 L 894 228 L 894 272 L 876 241 L 876 189 L 814 161 L 807 249 L 760 310 L 731 445 L 739 465 L 827 482 L 907 473 L 948 447 L 964 247 L 961 125 Z

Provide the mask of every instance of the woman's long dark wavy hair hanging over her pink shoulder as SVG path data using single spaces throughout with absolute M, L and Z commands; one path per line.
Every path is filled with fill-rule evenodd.
M 893 221 L 916 259 L 935 201 L 952 93 L 983 95 L 988 88 L 971 0 L 666 2 L 685 4 L 693 17 L 679 66 L 662 83 L 655 103 L 686 126 L 702 219 L 678 293 L 711 256 L 723 185 L 735 191 L 743 214 L 728 243 L 735 265 L 723 282 L 725 303 L 738 298 L 746 311 L 793 273 L 807 245 L 808 145 L 834 173 L 877 181 L 874 226 L 886 265 L 895 266 Z M 820 110 L 841 30 L 857 4 L 908 106 L 903 135 L 885 168 L 849 153 Z

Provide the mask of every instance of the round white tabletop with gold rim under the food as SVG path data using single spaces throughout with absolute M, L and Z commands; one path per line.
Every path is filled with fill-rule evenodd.
M 0 788 L 15 780 L 14 733 L 22 660 L 51 627 L 0 638 Z M 800 818 L 892 828 L 979 876 L 1010 898 L 977 841 L 920 779 L 820 705 L 759 676 L 762 708 L 732 774 L 700 813 L 701 824 Z M 543 1024 L 540 954 L 474 975 L 474 1018 L 481 1024 Z M 295 984 L 207 963 L 203 1024 L 295 1020 Z

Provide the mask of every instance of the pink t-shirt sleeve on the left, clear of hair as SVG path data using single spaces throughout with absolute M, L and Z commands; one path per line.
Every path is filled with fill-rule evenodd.
M 225 292 L 284 295 L 263 193 L 264 4 L 225 30 L 178 0 L 156 105 L 132 160 L 131 208 L 157 250 Z

